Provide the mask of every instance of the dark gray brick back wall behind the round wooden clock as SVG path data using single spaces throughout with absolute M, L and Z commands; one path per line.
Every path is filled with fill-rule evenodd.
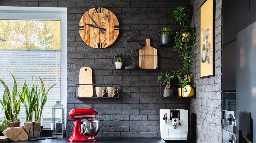
M 0 6 L 17 7 L 67 7 L 67 132 L 73 120 L 69 111 L 73 108 L 94 108 L 101 120 L 97 137 L 160 137 L 159 109 L 181 108 L 189 110 L 189 99 L 159 98 L 157 75 L 163 70 L 174 71 L 181 67 L 179 54 L 171 47 L 158 47 L 158 30 L 162 26 L 179 29 L 172 10 L 178 6 L 189 6 L 189 0 L 0 0 Z M 118 18 L 120 32 L 117 40 L 109 47 L 95 49 L 86 45 L 79 35 L 77 25 L 82 15 L 94 7 L 111 10 Z M 130 54 L 124 46 L 127 32 L 132 31 L 131 41 L 157 48 L 159 70 L 114 70 L 113 57 L 120 52 Z M 123 59 L 131 62 L 131 59 Z M 95 84 L 120 84 L 119 99 L 75 98 L 79 69 L 91 67 Z M 172 82 L 178 83 L 177 78 Z M 206 88 L 206 87 L 205 87 Z

